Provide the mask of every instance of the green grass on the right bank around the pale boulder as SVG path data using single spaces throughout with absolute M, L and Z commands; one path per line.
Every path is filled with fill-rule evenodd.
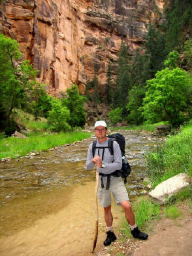
M 153 187 L 178 173 L 187 173 L 191 177 L 192 123 L 180 127 L 179 133 L 168 136 L 168 139 L 163 144 L 155 146 L 153 152 L 149 153 L 146 158 Z M 176 219 L 181 215 L 176 203 L 189 202 L 191 205 L 191 194 L 191 186 L 180 190 L 167 201 L 163 211 L 160 205 L 152 203 L 150 199 L 141 198 L 133 203 L 136 224 L 142 228 L 142 226 L 149 225 L 152 219 L 159 219 L 162 214 L 170 219 Z M 131 236 L 129 224 L 125 219 L 121 224 L 120 233 L 125 237 Z

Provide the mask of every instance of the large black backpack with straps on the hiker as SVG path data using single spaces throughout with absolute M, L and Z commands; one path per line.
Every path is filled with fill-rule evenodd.
M 124 183 L 127 183 L 127 176 L 131 173 L 131 166 L 129 165 L 128 161 L 125 158 L 125 137 L 121 135 L 120 133 L 114 133 L 112 135 L 108 135 L 108 146 L 106 147 L 97 147 L 97 140 L 93 141 L 92 146 L 92 154 L 93 157 L 95 156 L 95 150 L 96 148 L 103 148 L 103 155 L 104 155 L 104 148 L 108 148 L 110 151 L 110 154 L 114 154 L 114 147 L 113 142 L 116 140 L 118 144 L 120 145 L 121 155 L 122 155 L 122 168 L 121 170 L 116 170 L 113 173 L 110 173 L 110 175 L 116 176 L 116 177 L 122 177 L 124 179 Z M 102 156 L 103 159 L 103 156 Z

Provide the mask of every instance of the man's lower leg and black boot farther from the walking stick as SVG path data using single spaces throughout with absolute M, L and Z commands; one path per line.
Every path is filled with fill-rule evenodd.
M 133 213 L 131 203 L 129 201 L 123 201 L 121 202 L 121 206 L 123 207 L 125 211 L 125 218 L 127 222 L 129 223 L 129 226 L 131 228 L 131 234 L 134 238 L 139 238 L 141 240 L 146 240 L 148 238 L 148 234 L 145 234 L 143 232 L 140 232 L 138 227 L 135 223 L 135 215 Z

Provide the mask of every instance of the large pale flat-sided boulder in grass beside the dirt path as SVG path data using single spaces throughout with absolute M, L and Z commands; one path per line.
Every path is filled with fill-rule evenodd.
M 173 194 L 176 194 L 179 190 L 189 186 L 189 183 L 190 178 L 185 173 L 180 173 L 167 181 L 161 182 L 161 184 L 157 185 L 149 195 L 153 200 L 160 204 L 165 204 L 168 198 Z

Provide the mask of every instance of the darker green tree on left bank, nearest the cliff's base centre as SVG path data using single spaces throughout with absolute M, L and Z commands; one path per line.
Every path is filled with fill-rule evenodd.
M 84 108 L 84 97 L 79 94 L 78 86 L 72 85 L 67 89 L 64 98 L 61 100 L 62 105 L 70 111 L 69 125 L 71 127 L 84 127 L 86 123 L 86 111 Z

